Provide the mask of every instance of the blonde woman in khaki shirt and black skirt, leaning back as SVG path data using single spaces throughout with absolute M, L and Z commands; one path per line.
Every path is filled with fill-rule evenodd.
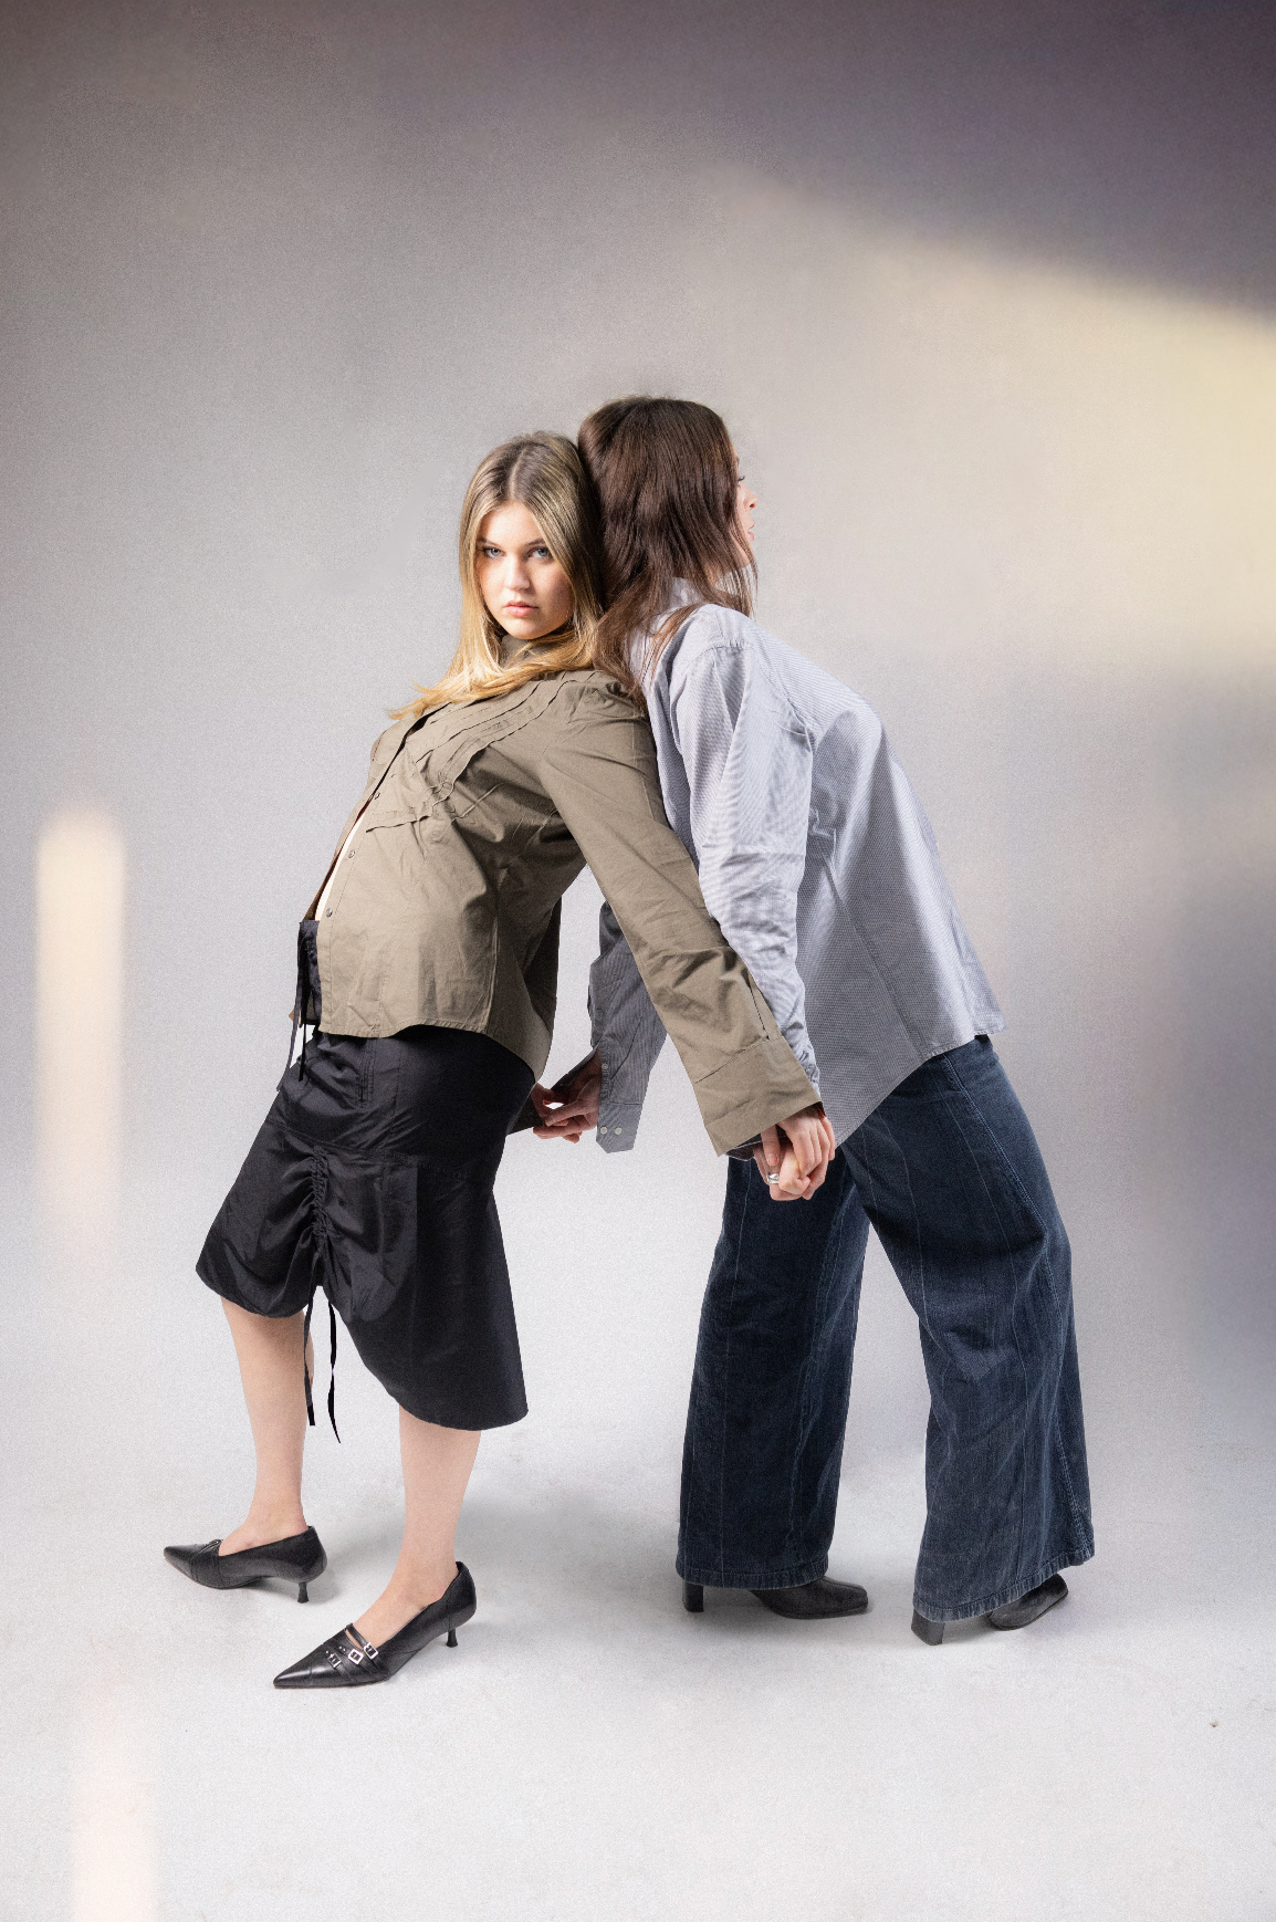
M 300 930 L 300 1061 L 200 1255 L 234 1336 L 258 1480 L 233 1534 L 165 1549 L 169 1563 L 217 1589 L 284 1578 L 300 1601 L 327 1566 L 302 1509 L 317 1290 L 332 1359 L 340 1315 L 400 1405 L 390 1584 L 277 1688 L 382 1682 L 436 1636 L 455 1645 L 475 1613 L 454 1536 L 478 1432 L 527 1413 L 492 1184 L 550 1053 L 559 901 L 586 861 L 713 1146 L 778 1122 L 784 1178 L 819 1182 L 828 1163 L 815 1090 L 665 823 L 651 734 L 588 665 L 592 502 L 557 434 L 496 448 L 473 477 L 455 659 L 373 748 Z

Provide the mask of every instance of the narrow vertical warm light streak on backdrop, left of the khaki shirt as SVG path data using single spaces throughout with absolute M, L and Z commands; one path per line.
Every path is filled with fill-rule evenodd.
M 106 1236 L 119 1195 L 125 850 L 100 813 L 61 813 L 37 851 L 37 1151 L 46 1219 Z

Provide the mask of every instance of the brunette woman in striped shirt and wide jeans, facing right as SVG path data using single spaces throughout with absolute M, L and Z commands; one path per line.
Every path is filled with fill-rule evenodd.
M 869 1222 L 930 1380 L 915 1632 L 1020 1628 L 1093 1553 L 1068 1240 L 990 1036 L 1001 1013 L 930 825 L 867 702 L 749 619 L 755 498 L 724 423 L 619 400 L 580 429 L 603 504 L 596 663 L 650 707 L 665 807 L 840 1142 L 819 1192 L 732 1161 L 699 1324 L 678 1570 L 782 1614 L 851 1614 L 824 1576 Z M 659 1011 L 603 913 L 592 1065 L 544 1136 L 632 1146 Z M 807 1199 L 807 1207 L 773 1201 Z

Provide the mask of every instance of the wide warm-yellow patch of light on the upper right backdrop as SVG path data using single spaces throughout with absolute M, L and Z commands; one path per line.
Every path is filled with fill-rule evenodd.
M 1276 659 L 1268 315 L 744 173 L 688 277 L 748 396 L 765 598 L 786 638 L 819 609 L 834 671 L 847 634 L 1126 682 Z

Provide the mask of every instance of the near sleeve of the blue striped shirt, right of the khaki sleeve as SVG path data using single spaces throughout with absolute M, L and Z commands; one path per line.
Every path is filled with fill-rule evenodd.
M 723 638 L 675 657 L 669 725 L 688 784 L 705 907 L 819 1086 L 798 973 L 813 744 L 765 659 Z

